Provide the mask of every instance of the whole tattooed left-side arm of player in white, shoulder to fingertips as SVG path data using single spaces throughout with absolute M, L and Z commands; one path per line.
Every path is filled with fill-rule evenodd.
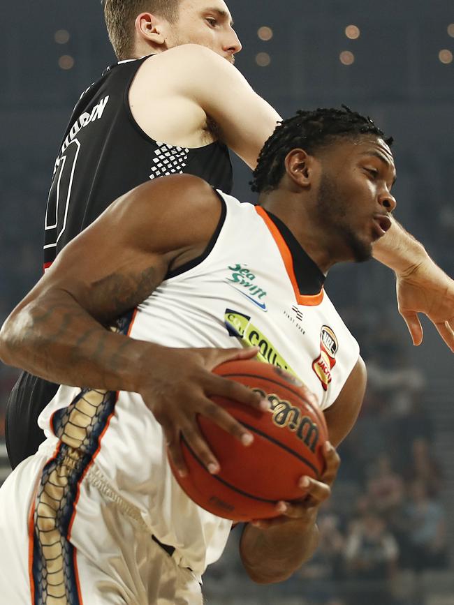
M 11 313 L 0 332 L 0 359 L 60 384 L 139 393 L 163 425 L 176 467 L 184 473 L 183 434 L 215 472 L 219 464 L 198 431 L 196 414 L 247 444 L 248 431 L 210 396 L 254 407 L 260 398 L 211 370 L 256 350 L 171 349 L 105 326 L 151 294 L 168 269 L 203 253 L 220 213 L 212 188 L 188 175 L 127 193 L 61 251 Z

